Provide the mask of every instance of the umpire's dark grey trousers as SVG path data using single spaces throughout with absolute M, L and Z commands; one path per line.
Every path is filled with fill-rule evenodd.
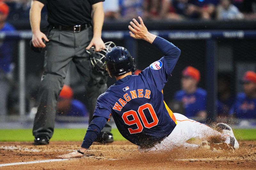
M 92 39 L 92 27 L 79 33 L 52 29 L 48 35 L 44 56 L 44 74 L 39 89 L 39 105 L 33 126 L 33 135 L 52 137 L 57 99 L 66 77 L 68 65 L 74 62 L 85 85 L 90 121 L 98 96 L 107 90 L 107 77 L 93 71 L 85 48 Z M 107 124 L 102 131 L 110 131 Z

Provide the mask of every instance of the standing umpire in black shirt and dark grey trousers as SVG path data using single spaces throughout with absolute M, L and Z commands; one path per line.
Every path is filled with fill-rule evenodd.
M 93 70 L 85 50 L 92 46 L 95 46 L 96 51 L 105 48 L 101 39 L 104 20 L 103 1 L 32 0 L 31 2 L 32 44 L 36 48 L 45 48 L 44 74 L 39 89 L 39 105 L 33 126 L 35 145 L 49 144 L 52 137 L 57 99 L 70 62 L 76 64 L 78 73 L 86 87 L 90 102 L 90 118 L 92 118 L 98 96 L 107 90 L 107 77 Z M 41 10 L 45 4 L 49 22 L 46 34 L 40 31 Z M 110 130 L 111 126 L 106 125 L 100 132 L 98 142 L 113 142 Z

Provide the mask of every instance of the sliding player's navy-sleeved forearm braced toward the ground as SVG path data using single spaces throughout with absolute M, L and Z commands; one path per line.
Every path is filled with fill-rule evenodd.
M 88 149 L 98 137 L 100 131 L 103 129 L 106 123 L 107 119 L 105 117 L 94 116 L 86 131 L 81 147 Z

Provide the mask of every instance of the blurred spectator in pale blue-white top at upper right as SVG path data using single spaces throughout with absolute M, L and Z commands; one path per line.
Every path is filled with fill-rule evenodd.
M 220 0 L 220 5 L 217 7 L 217 19 L 243 19 L 244 15 L 238 8 L 231 4 L 231 0 Z

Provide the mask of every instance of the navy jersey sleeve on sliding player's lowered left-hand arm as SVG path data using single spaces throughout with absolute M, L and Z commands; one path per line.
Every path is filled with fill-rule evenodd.
M 101 116 L 108 119 L 111 114 L 111 111 L 112 109 L 108 105 L 107 100 L 103 97 L 103 95 L 100 95 L 97 99 L 97 104 L 93 116 Z

